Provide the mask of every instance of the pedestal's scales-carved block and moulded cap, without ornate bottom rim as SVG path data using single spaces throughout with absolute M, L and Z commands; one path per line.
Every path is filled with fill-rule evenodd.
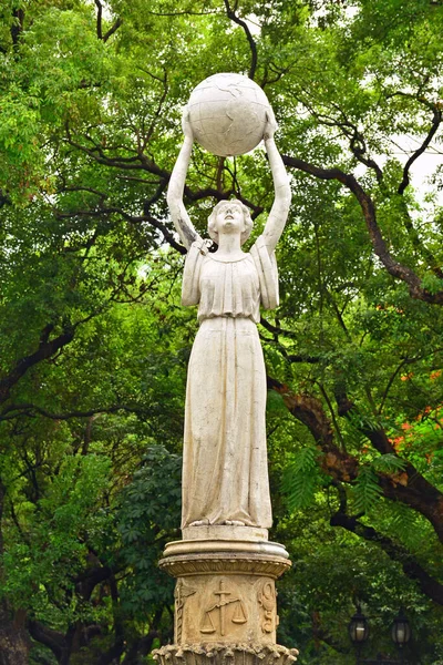
M 275 581 L 289 566 L 285 548 L 255 541 L 177 541 L 159 566 L 177 577 L 177 644 L 275 644 Z

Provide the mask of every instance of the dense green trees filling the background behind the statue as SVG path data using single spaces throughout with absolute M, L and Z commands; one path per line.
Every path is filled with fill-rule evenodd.
M 4 0 L 0 8 L 0 665 L 136 665 L 172 638 L 186 364 L 165 191 L 192 89 L 267 93 L 291 176 L 264 313 L 272 539 L 300 663 L 443 663 L 441 0 Z M 411 147 L 413 146 L 413 147 Z M 194 149 L 203 234 L 265 152 Z M 208 358 L 210 362 L 210 358 Z

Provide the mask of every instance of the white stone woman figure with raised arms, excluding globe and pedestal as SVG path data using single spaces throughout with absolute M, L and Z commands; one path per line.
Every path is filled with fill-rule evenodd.
M 183 305 L 198 305 L 186 389 L 182 529 L 203 524 L 269 528 L 271 507 L 266 454 L 266 372 L 258 337 L 259 306 L 278 305 L 275 247 L 290 205 L 288 176 L 267 114 L 264 141 L 275 187 L 265 231 L 241 250 L 253 222 L 239 201 L 222 201 L 208 219 L 215 253 L 195 231 L 183 203 L 193 131 L 185 111 L 185 141 L 174 166 L 167 203 L 188 250 Z

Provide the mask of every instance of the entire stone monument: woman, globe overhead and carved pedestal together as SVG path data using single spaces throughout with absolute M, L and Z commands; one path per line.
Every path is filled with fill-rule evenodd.
M 290 565 L 268 542 L 271 504 L 266 452 L 266 370 L 257 324 L 260 307 L 278 306 L 275 249 L 290 206 L 290 186 L 275 143 L 277 124 L 264 91 L 239 74 L 216 74 L 190 94 L 185 135 L 167 203 L 187 249 L 182 304 L 197 306 L 189 358 L 183 447 L 183 540 L 168 543 L 159 566 L 177 579 L 175 644 L 157 649 L 161 665 L 289 665 L 297 649 L 276 644 L 275 580 Z M 194 142 L 235 156 L 260 142 L 275 198 L 262 233 L 239 198 L 222 200 L 206 239 L 184 204 Z M 213 246 L 213 243 L 215 244 Z M 209 250 L 210 249 L 210 250 Z

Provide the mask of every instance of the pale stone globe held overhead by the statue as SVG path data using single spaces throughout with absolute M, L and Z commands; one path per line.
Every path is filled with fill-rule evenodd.
M 188 120 L 194 137 L 223 157 L 243 155 L 264 136 L 270 110 L 261 88 L 241 74 L 214 74 L 190 93 Z

